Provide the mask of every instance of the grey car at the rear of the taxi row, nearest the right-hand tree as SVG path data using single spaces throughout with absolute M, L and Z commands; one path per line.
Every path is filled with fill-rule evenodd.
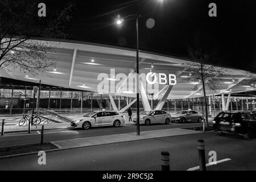
M 176 114 L 172 115 L 172 122 L 191 122 L 197 121 L 202 122 L 203 114 L 198 113 L 195 110 L 181 110 Z

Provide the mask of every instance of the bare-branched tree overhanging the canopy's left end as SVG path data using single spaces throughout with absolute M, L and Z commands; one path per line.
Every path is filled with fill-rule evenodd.
M 38 16 L 39 1 L 0 0 L 0 69 L 20 69 L 33 75 L 55 64 L 48 51 L 51 43 L 36 39 L 67 38 L 67 26 L 75 5 L 47 6 L 47 16 Z M 53 8 L 56 10 L 53 10 Z

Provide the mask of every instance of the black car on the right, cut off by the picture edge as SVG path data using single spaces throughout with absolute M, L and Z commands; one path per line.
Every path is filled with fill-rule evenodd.
M 245 138 L 255 137 L 256 115 L 239 111 L 223 111 L 213 120 L 213 129 L 221 133 L 243 135 Z

